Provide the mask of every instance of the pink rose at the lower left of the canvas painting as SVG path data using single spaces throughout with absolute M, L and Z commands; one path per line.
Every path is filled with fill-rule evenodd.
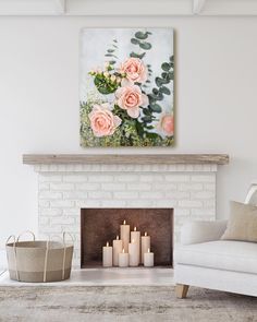
M 112 135 L 121 124 L 121 119 L 112 114 L 109 104 L 95 104 L 88 117 L 94 134 L 99 138 Z

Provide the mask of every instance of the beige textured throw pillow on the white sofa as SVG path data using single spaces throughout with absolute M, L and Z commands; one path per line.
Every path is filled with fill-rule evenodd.
M 221 239 L 257 242 L 257 206 L 230 202 L 230 218 Z

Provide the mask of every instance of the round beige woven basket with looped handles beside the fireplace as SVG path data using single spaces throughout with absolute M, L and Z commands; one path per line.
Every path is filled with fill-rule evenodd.
M 73 241 L 65 242 L 66 232 L 63 232 L 61 242 L 35 240 L 32 231 L 25 232 L 33 236 L 33 241 L 20 241 L 21 235 L 17 239 L 12 235 L 7 240 L 10 278 L 33 283 L 60 282 L 70 278 Z M 13 242 L 10 242 L 11 239 Z

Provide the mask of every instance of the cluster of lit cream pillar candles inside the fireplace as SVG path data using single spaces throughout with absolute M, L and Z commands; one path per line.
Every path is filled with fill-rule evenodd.
M 123 222 L 120 225 L 121 238 L 117 236 L 112 246 L 107 242 L 102 247 L 102 265 L 103 267 L 111 266 L 138 266 L 144 264 L 146 267 L 154 266 L 154 253 L 150 252 L 150 236 L 145 232 L 140 236 L 140 231 L 131 231 L 130 225 Z

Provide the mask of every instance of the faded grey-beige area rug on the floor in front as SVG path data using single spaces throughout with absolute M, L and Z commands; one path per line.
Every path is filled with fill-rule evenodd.
M 0 287 L 0 321 L 257 321 L 257 298 L 191 288 L 176 299 L 166 286 Z

